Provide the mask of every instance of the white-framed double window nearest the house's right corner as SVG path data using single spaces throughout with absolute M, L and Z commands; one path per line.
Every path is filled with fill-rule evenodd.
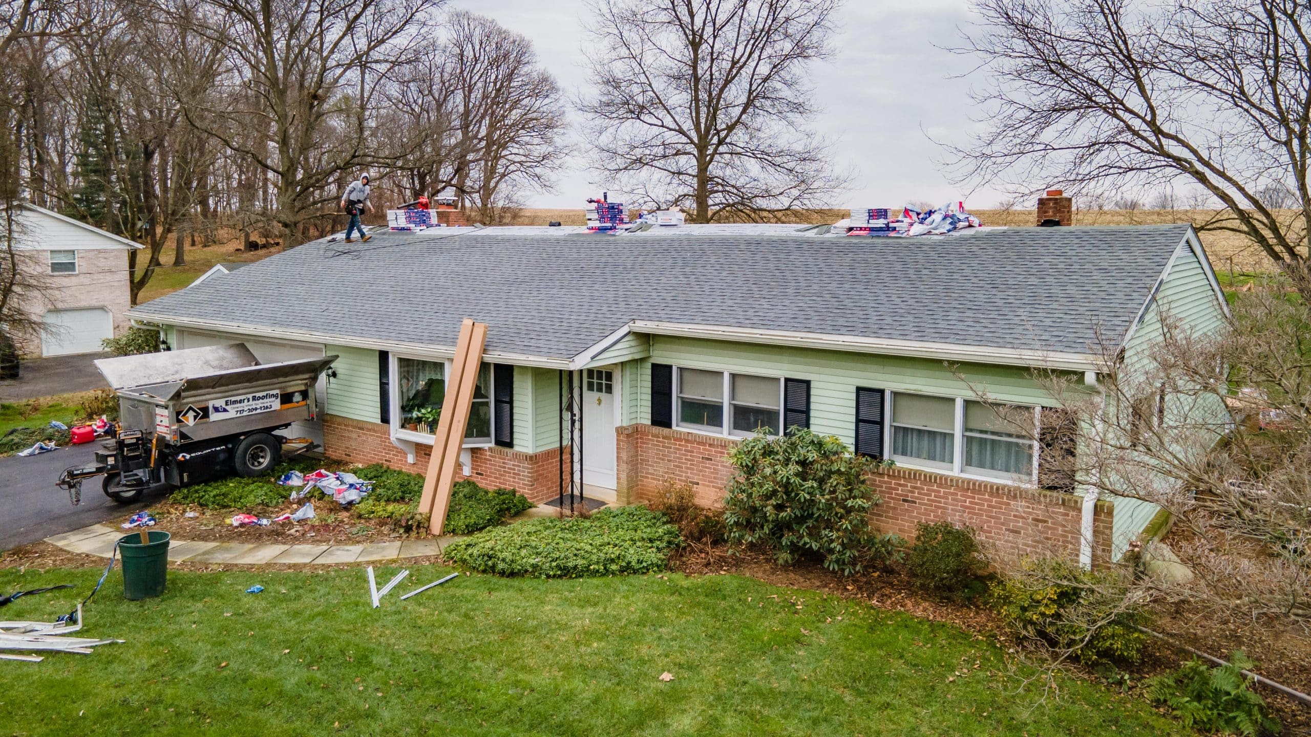
M 1033 484 L 1034 442 L 1017 422 L 1038 408 L 888 392 L 888 454 L 899 464 L 985 480 Z M 996 409 L 994 409 L 994 407 Z

